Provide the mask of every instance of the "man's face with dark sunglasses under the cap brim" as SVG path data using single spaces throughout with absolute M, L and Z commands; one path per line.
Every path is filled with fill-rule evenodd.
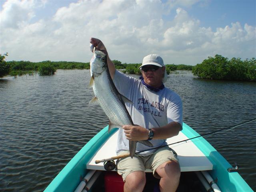
M 144 82 L 154 88 L 160 87 L 162 85 L 164 70 L 165 67 L 159 67 L 157 69 L 157 67 L 154 65 L 144 66 L 142 68 L 142 76 L 144 78 Z

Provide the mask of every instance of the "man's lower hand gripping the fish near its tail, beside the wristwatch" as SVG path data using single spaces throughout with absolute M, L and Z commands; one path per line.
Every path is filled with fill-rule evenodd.
M 124 125 L 123 127 L 125 136 L 131 141 L 140 141 L 148 139 L 148 129 L 138 125 Z

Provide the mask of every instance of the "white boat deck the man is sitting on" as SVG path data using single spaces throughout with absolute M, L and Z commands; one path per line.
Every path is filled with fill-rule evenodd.
M 107 159 L 116 156 L 116 141 L 118 131 L 115 132 L 98 150 L 98 152 L 91 158 L 86 165 L 87 169 L 104 170 L 103 163 L 95 164 L 95 160 Z M 182 132 L 177 136 L 167 139 L 167 143 L 175 143 L 188 139 Z M 199 138 L 198 138 L 199 139 Z M 196 145 L 188 140 L 187 142 L 181 142 L 170 146 L 178 154 L 180 162 L 180 168 L 182 172 L 186 171 L 202 171 L 212 170 L 213 165 L 206 156 L 196 147 Z M 146 170 L 151 172 L 151 170 Z

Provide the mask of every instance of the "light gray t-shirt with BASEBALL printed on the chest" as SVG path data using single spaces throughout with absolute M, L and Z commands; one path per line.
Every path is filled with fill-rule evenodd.
M 151 91 L 141 80 L 126 76 L 118 70 L 114 75 L 114 84 L 120 94 L 133 103 L 126 103 L 126 108 L 132 117 L 133 123 L 144 128 L 157 128 L 170 122 L 178 122 L 182 126 L 182 100 L 180 96 L 168 88 L 158 92 Z M 166 145 L 166 140 L 150 140 L 154 147 Z M 119 129 L 116 152 L 129 150 L 129 141 L 124 130 Z M 136 152 L 150 150 L 149 146 L 137 143 Z M 152 151 L 142 152 L 148 155 Z

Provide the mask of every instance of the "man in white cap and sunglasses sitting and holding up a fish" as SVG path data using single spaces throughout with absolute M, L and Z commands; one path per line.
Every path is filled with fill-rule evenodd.
M 90 43 L 107 54 L 104 44 L 91 38 Z M 140 70 L 141 80 L 126 76 L 115 69 L 108 57 L 110 76 L 118 91 L 133 104 L 126 104 L 134 126 L 124 125 L 118 135 L 116 152 L 128 153 L 127 140 L 150 140 L 154 147 L 166 145 L 166 139 L 182 130 L 182 101 L 172 90 L 164 87 L 166 69 L 162 58 L 156 54 L 144 57 Z M 153 170 L 160 178 L 160 191 L 176 191 L 180 179 L 180 165 L 176 153 L 168 147 L 150 150 L 149 146 L 137 143 L 133 158 L 118 161 L 118 174 L 125 182 L 124 192 L 141 192 L 146 184 L 145 170 Z

